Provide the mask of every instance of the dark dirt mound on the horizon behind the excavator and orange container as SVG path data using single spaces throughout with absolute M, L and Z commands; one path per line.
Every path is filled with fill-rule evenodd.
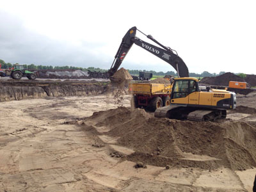
M 212 85 L 220 85 L 220 86 L 228 86 L 229 81 L 238 81 L 245 82 L 242 77 L 236 76 L 230 72 L 222 74 L 221 76 L 216 77 L 204 77 L 200 84 L 212 84 Z

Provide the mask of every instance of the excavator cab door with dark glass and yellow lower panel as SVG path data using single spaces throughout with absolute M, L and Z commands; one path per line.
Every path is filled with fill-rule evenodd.
M 177 80 L 174 83 L 171 104 L 188 104 L 189 80 Z

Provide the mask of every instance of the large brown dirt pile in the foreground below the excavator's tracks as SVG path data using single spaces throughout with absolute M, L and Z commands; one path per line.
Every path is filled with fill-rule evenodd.
M 123 157 L 130 161 L 210 170 L 256 166 L 256 126 L 246 122 L 169 120 L 124 107 L 93 113 L 84 121 L 109 129 L 104 134 L 132 148 L 135 152 Z

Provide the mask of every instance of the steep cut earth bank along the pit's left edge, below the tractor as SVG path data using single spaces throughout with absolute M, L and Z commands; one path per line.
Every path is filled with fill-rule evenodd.
M 42 97 L 99 95 L 106 92 L 107 88 L 105 82 L 3 81 L 0 82 L 0 102 Z

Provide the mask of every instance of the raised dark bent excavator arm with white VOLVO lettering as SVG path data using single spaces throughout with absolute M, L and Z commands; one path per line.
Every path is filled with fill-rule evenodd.
M 147 50 L 148 52 L 154 54 L 155 56 L 159 57 L 161 60 L 164 60 L 172 65 L 172 67 L 175 68 L 175 70 L 177 71 L 179 77 L 189 77 L 188 67 L 186 66 L 184 61 L 178 56 L 176 51 L 172 50 L 170 47 L 165 47 L 164 45 L 160 44 L 151 35 L 147 35 L 147 38 L 163 47 L 163 49 L 155 45 L 148 44 L 148 42 L 145 42 L 136 36 L 137 30 L 138 29 L 136 27 L 133 27 L 129 29 L 129 31 L 127 31 L 127 33 L 125 34 L 120 44 L 120 47 L 116 52 L 115 60 L 113 61 L 111 68 L 108 71 L 109 76 L 113 76 L 113 74 L 115 74 L 115 72 L 120 67 L 122 61 L 124 60 L 125 56 L 131 49 L 132 45 L 136 44 L 141 48 Z M 143 35 L 145 34 L 143 33 Z

